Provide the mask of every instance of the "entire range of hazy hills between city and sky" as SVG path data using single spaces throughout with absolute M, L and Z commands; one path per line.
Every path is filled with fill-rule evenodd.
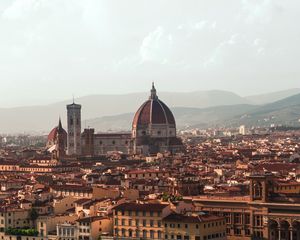
M 82 126 L 102 132 L 128 131 L 134 112 L 148 95 L 134 93 L 79 98 L 76 102 L 83 106 Z M 158 95 L 172 109 L 179 128 L 300 123 L 300 94 L 262 106 L 250 104 L 234 93 L 217 90 L 162 92 Z M 57 125 L 59 116 L 65 123 L 66 104 L 69 102 L 0 109 L 0 133 L 48 133 Z

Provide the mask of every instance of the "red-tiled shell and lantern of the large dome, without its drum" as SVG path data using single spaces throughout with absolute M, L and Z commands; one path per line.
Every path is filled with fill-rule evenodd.
M 132 123 L 134 128 L 150 124 L 175 125 L 173 113 L 166 104 L 158 99 L 154 85 L 149 100 L 138 109 Z

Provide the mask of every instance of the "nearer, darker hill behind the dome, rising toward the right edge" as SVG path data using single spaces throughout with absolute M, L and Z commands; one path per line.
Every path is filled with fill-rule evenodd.
M 299 126 L 300 94 L 263 106 L 239 104 L 203 109 L 175 107 L 171 110 L 179 128 L 238 127 L 242 124 L 248 127 L 270 126 L 271 124 Z M 99 131 L 129 130 L 133 115 L 133 113 L 127 113 L 96 118 L 86 122 Z

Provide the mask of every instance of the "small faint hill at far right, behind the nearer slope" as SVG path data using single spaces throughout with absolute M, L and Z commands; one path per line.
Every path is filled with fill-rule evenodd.
M 249 102 L 257 105 L 272 103 L 300 93 L 300 88 L 287 89 L 279 92 L 247 96 Z

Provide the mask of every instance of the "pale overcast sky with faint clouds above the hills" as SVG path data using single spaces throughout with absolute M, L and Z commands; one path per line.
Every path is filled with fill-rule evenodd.
M 299 0 L 1 0 L 0 107 L 300 87 Z

